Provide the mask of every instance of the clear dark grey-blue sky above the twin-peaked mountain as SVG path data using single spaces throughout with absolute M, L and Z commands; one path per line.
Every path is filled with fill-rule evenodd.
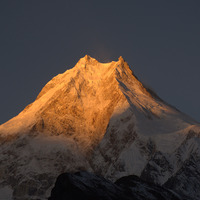
M 85 54 L 123 56 L 162 99 L 200 121 L 199 0 L 1 0 L 0 124 Z

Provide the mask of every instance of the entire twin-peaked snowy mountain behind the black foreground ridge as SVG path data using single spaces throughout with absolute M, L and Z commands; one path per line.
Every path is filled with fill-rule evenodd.
M 0 126 L 0 191 L 46 198 L 63 172 L 137 175 L 200 198 L 200 126 L 143 86 L 122 57 L 81 58 Z M 7 189 L 8 190 L 8 189 Z

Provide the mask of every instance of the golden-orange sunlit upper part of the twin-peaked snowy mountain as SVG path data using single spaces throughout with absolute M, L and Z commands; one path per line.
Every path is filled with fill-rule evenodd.
M 140 102 L 130 93 L 129 85 Z M 67 135 L 75 137 L 87 150 L 104 136 L 112 115 L 130 106 L 128 93 L 135 99 L 137 109 L 146 115 L 150 112 L 142 104 L 158 104 L 122 57 L 102 64 L 86 55 L 73 69 L 49 81 L 35 102 L 0 126 L 0 133 Z

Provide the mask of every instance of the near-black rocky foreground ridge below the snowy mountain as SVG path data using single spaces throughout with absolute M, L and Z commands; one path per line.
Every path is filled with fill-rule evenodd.
M 115 183 L 88 172 L 61 174 L 48 200 L 181 200 L 174 192 L 136 176 Z

